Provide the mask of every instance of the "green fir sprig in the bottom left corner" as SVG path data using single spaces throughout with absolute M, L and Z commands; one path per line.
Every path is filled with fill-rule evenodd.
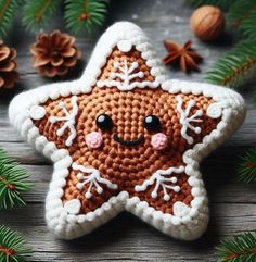
M 26 247 L 24 237 L 7 226 L 0 226 L 0 261 L 25 262 L 33 250 Z

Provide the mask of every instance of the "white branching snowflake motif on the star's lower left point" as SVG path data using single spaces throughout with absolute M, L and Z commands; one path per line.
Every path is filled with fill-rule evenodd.
M 98 194 L 103 192 L 103 188 L 100 186 L 99 183 L 106 185 L 110 189 L 117 189 L 116 184 L 110 182 L 106 178 L 101 177 L 99 170 L 95 170 L 93 167 L 86 167 L 86 166 L 79 165 L 77 163 L 73 163 L 72 167 L 75 171 L 81 171 L 82 173 L 89 174 L 89 175 L 84 175 L 82 173 L 78 173 L 77 178 L 79 179 L 79 182 L 76 185 L 76 188 L 81 190 L 86 184 L 88 184 L 88 183 L 90 184 L 85 194 L 85 197 L 87 199 L 90 199 L 92 197 L 91 188 L 93 186 L 97 188 Z

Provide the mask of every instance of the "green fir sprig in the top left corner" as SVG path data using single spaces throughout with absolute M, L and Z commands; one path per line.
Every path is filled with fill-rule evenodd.
M 11 29 L 16 11 L 16 0 L 0 0 L 0 38 L 7 36 Z

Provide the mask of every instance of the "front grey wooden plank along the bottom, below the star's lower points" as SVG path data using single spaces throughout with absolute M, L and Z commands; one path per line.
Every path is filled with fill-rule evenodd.
M 212 204 L 210 225 L 194 242 L 174 240 L 127 213 L 75 241 L 54 239 L 44 226 L 41 204 L 4 211 L 4 215 L 0 211 L 0 215 L 2 223 L 27 236 L 29 245 L 39 254 L 33 261 L 52 261 L 54 258 L 66 261 L 82 258 L 86 261 L 148 261 L 149 258 L 151 261 L 215 261 L 213 250 L 221 237 L 256 227 L 256 221 L 252 219 L 256 210 L 252 208 L 253 204 L 247 203 Z

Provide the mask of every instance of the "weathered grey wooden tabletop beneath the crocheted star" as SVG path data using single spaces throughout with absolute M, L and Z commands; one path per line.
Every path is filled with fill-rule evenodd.
M 152 38 L 159 58 L 165 54 L 163 40 L 170 38 L 180 43 L 193 40 L 194 48 L 204 57 L 202 73 L 185 75 L 169 70 L 171 78 L 201 80 L 206 70 L 231 47 L 229 36 L 218 43 L 205 45 L 190 32 L 192 10 L 180 0 L 115 0 L 111 7 L 110 23 L 133 21 Z M 62 28 L 62 26 L 60 27 Z M 164 236 L 128 213 L 121 213 L 112 222 L 89 236 L 74 241 L 55 240 L 44 223 L 44 198 L 52 175 L 52 165 L 39 155 L 10 126 L 8 105 L 12 97 L 23 89 L 31 89 L 50 83 L 31 68 L 28 47 L 34 35 L 25 35 L 16 23 L 8 43 L 17 49 L 21 83 L 17 88 L 0 97 L 0 147 L 27 169 L 34 189 L 26 195 L 25 208 L 0 211 L 0 223 L 24 234 L 35 250 L 30 261 L 216 261 L 216 246 L 225 236 L 256 228 L 256 190 L 254 185 L 238 183 L 235 165 L 245 149 L 256 145 L 256 110 L 247 100 L 248 113 L 242 128 L 202 164 L 208 190 L 210 223 L 205 235 L 193 242 L 182 242 Z M 97 37 L 77 39 L 85 64 L 90 58 Z M 67 78 L 75 78 L 82 66 Z

